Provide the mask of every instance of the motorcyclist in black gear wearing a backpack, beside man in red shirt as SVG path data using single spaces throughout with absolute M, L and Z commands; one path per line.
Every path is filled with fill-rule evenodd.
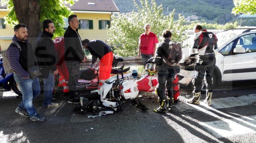
M 175 49 L 179 49 L 178 56 L 175 62 L 170 62 L 170 53 L 168 53 L 169 45 L 171 42 L 171 32 L 169 30 L 165 30 L 162 34 L 164 40 L 159 44 L 156 49 L 156 54 L 153 62 L 158 66 L 158 86 L 156 88 L 156 93 L 159 97 L 160 107 L 158 109 L 154 109 L 156 113 L 166 113 L 167 109 L 165 104 L 168 103 L 168 110 L 173 111 L 173 87 L 172 83 L 174 81 L 174 77 L 176 74 L 177 63 L 182 58 L 182 50 L 180 43 L 173 43 L 173 46 L 177 46 Z M 166 102 L 166 94 L 167 101 Z

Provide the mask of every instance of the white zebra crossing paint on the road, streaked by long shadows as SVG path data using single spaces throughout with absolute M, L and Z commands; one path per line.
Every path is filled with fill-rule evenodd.
M 217 110 L 220 108 L 228 108 L 228 107 L 244 106 L 244 105 L 252 104 L 252 102 L 256 101 L 255 97 L 256 97 L 256 94 L 251 94 L 251 95 L 242 96 L 242 97 L 228 97 L 228 98 L 214 99 L 213 107 L 209 107 L 203 102 L 200 103 L 200 106 L 189 104 L 189 103 L 187 103 L 187 105 L 197 110 L 200 110 L 205 114 L 211 115 L 213 116 L 213 118 L 217 118 L 218 120 L 216 121 L 201 122 L 201 124 L 203 127 L 206 128 L 206 130 L 210 131 L 212 135 L 216 136 L 216 138 L 222 138 L 222 137 L 242 135 L 242 134 L 247 134 L 252 132 L 256 133 L 256 115 L 245 117 L 243 115 L 235 114 L 240 116 L 239 118 L 237 118 Z M 202 106 L 204 106 L 204 108 Z M 215 113 L 218 113 L 218 115 Z M 224 118 L 224 116 L 220 117 L 219 114 L 229 117 L 229 119 Z M 196 119 L 193 119 L 193 120 L 196 120 Z M 199 121 L 197 120 L 197 122 Z

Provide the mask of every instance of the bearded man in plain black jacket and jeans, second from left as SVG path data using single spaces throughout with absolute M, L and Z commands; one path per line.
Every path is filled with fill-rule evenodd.
M 58 74 L 56 67 L 58 57 L 52 39 L 56 29 L 50 19 L 44 20 L 42 27 L 43 31 L 38 36 L 35 53 L 42 73 L 40 77 L 43 78 L 43 107 L 57 107 L 59 103 L 51 102 L 55 83 L 54 77 L 55 74 Z

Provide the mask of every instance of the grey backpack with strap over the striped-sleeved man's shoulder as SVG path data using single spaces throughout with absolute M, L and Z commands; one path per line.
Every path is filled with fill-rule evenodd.
M 13 69 L 11 68 L 9 59 L 8 59 L 8 50 L 10 47 L 15 46 L 19 52 L 21 51 L 20 45 L 18 42 L 16 41 L 12 41 L 11 44 L 9 45 L 9 47 L 7 48 L 7 50 L 5 50 L 4 54 L 3 54 L 3 66 L 4 66 L 4 72 L 5 73 L 13 73 Z

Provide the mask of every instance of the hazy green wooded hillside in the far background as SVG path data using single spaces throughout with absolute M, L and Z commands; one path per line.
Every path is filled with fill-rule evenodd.
M 140 1 L 136 0 L 140 5 Z M 149 0 L 151 1 L 151 0 Z M 231 14 L 234 7 L 233 0 L 155 0 L 159 6 L 163 5 L 164 15 L 168 15 L 175 9 L 175 15 L 181 13 L 185 17 L 191 15 L 199 16 L 199 19 L 213 21 L 218 24 L 225 24 L 234 19 Z M 136 11 L 132 0 L 114 0 L 120 13 Z

